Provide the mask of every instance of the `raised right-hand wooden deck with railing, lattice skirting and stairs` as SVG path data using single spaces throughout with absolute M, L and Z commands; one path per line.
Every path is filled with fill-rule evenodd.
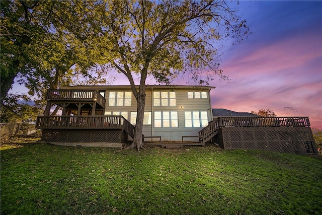
M 223 149 L 317 153 L 308 117 L 219 117 L 199 131 Z

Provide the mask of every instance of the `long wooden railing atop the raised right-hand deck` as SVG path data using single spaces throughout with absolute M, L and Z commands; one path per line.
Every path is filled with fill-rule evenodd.
M 308 127 L 308 117 L 219 117 L 220 127 Z

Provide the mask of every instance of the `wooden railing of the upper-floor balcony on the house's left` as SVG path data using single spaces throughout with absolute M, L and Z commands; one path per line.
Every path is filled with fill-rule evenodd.
M 96 101 L 105 107 L 106 99 L 96 90 L 48 90 L 48 101 Z

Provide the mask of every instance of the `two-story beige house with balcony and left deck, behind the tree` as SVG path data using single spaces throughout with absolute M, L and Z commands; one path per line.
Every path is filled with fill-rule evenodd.
M 155 137 L 178 141 L 183 136 L 198 141 L 198 131 L 212 120 L 211 89 L 214 87 L 146 86 L 145 141 Z M 49 108 L 46 108 L 45 116 L 38 117 L 37 126 L 43 130 L 42 140 L 122 142 L 131 139 L 133 127 L 129 123 L 135 126 L 137 102 L 130 86 L 72 86 L 49 90 L 47 106 L 53 104 L 61 107 L 61 116 L 50 116 Z M 124 130 L 119 123 L 131 128 Z M 112 134 L 112 129 L 114 132 L 120 130 L 118 134 Z M 68 138 L 66 133 L 73 138 Z M 84 137 L 78 138 L 79 135 Z M 109 135 L 119 138 L 103 137 Z

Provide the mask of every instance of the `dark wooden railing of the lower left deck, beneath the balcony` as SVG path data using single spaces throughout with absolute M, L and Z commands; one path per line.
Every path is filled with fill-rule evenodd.
M 37 116 L 36 128 L 123 129 L 134 136 L 134 126 L 123 116 Z

